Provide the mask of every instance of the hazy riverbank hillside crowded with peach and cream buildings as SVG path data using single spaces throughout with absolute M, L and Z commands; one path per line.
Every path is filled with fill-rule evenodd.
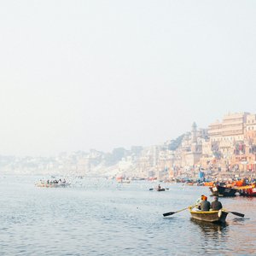
M 151 147 L 114 148 L 111 153 L 62 153 L 56 157 L 0 156 L 0 172 L 97 177 L 253 177 L 256 171 L 256 114 L 229 113 L 207 128 Z

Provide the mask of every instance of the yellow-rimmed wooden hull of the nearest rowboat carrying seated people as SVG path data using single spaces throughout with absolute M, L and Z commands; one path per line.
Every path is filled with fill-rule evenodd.
M 209 212 L 200 212 L 189 210 L 191 218 L 211 222 L 211 223 L 224 223 L 229 212 L 224 212 L 224 210 L 219 211 L 209 211 Z

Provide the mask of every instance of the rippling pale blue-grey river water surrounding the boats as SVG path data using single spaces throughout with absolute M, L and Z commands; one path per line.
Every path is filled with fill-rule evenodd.
M 225 225 L 202 224 L 183 209 L 207 187 L 73 180 L 70 188 L 38 188 L 39 177 L 0 177 L 0 255 L 256 254 L 256 198 L 222 198 Z M 210 200 L 212 198 L 208 197 Z

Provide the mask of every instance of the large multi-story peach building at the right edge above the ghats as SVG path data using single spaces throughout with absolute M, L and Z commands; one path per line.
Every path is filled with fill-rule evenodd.
M 253 144 L 256 143 L 256 115 L 229 113 L 222 122 L 209 125 L 212 153 L 224 170 L 255 170 Z M 215 148 L 215 149 L 213 149 Z M 256 170 L 255 170 L 256 171 Z

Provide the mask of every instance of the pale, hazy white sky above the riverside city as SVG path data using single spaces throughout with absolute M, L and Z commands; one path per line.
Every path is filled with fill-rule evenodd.
M 163 143 L 256 113 L 256 1 L 1 1 L 0 154 Z

